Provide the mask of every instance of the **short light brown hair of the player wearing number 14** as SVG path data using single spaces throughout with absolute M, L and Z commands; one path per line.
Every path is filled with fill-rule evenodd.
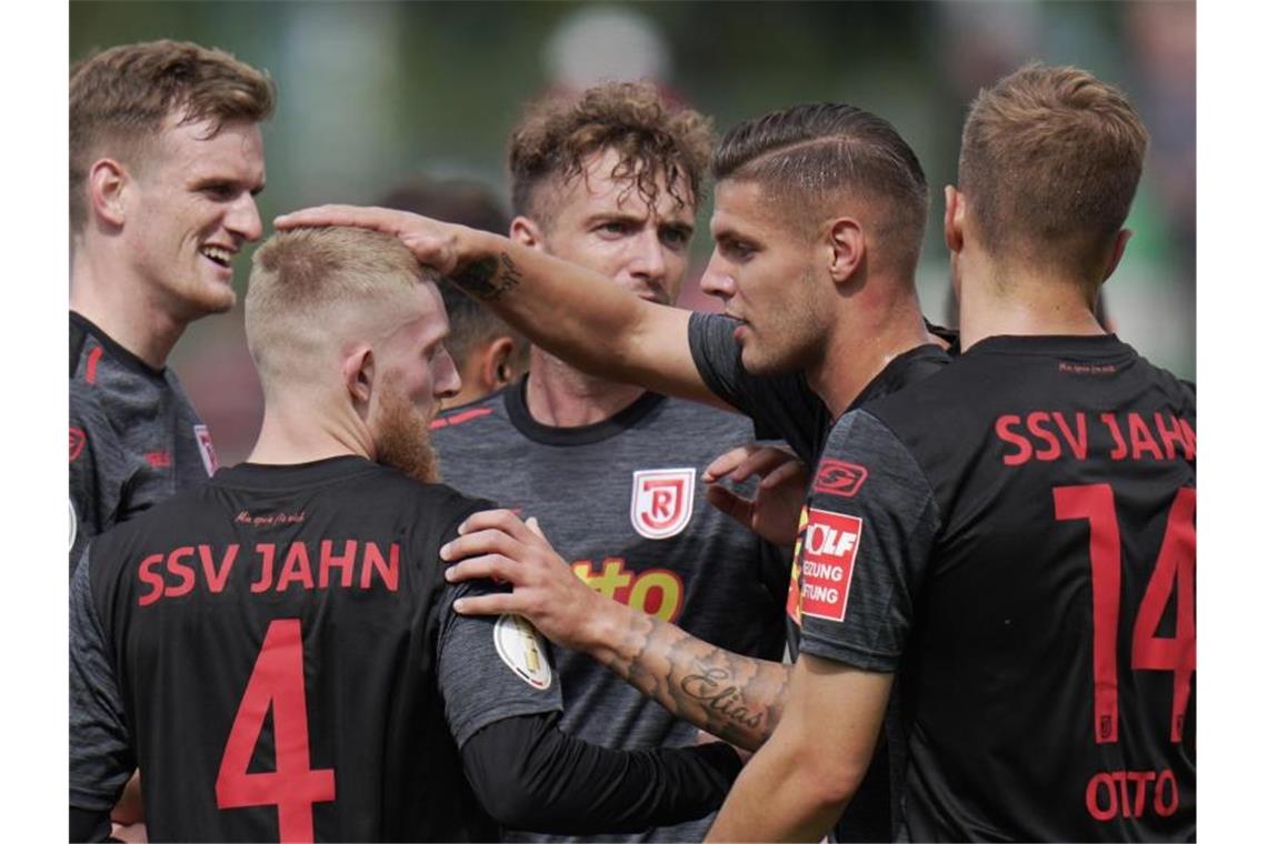
M 1125 95 L 1083 70 L 1028 65 L 982 90 L 959 152 L 982 245 L 1090 270 L 1126 220 L 1147 148 Z

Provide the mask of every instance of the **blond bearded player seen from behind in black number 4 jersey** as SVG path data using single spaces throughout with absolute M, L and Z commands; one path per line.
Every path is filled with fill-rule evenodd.
M 99 537 L 71 582 L 73 840 L 133 767 L 156 840 L 592 835 L 716 809 L 722 743 L 621 753 L 557 728 L 522 619 L 450 611 L 438 562 L 489 502 L 436 482 L 459 387 L 431 273 L 360 229 L 279 234 L 246 301 L 265 411 L 247 462 Z

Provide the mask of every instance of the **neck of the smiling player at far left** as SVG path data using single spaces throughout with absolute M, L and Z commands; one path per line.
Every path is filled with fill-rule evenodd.
M 86 248 L 76 249 L 71 259 L 71 310 L 155 369 L 166 366 L 188 325 L 115 262 Z

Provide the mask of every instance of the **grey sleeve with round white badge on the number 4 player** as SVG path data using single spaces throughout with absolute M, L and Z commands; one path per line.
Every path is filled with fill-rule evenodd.
M 450 586 L 437 607 L 440 688 L 459 748 L 494 721 L 563 711 L 559 674 L 536 628 L 517 615 L 454 612 L 459 597 L 488 591 L 487 581 Z

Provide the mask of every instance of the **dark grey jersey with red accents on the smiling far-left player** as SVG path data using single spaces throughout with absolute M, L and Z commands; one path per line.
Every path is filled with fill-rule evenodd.
M 70 568 L 89 540 L 215 472 L 176 375 L 70 315 Z

